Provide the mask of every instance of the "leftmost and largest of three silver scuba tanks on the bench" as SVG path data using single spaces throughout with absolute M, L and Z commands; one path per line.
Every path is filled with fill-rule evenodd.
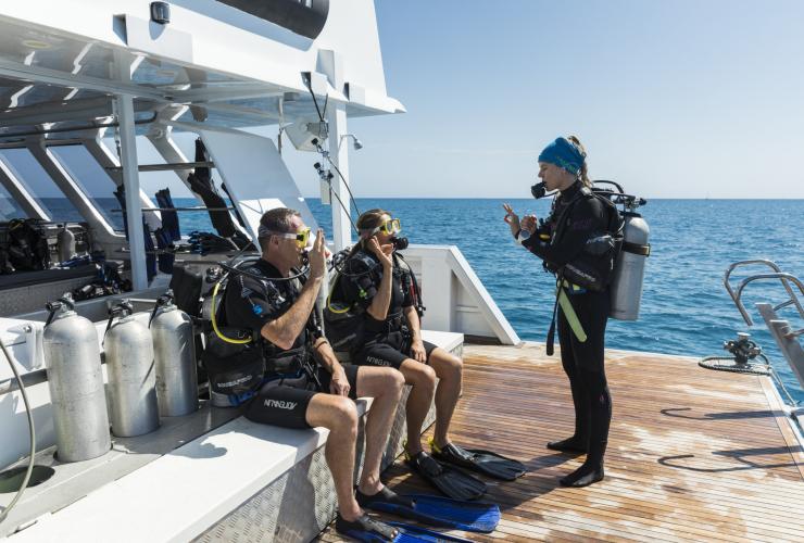
M 112 446 L 98 332 L 75 313 L 70 294 L 47 304 L 42 344 L 60 462 L 80 462 Z

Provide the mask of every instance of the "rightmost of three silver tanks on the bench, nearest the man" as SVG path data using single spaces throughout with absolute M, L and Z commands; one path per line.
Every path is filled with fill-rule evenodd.
M 156 300 L 151 321 L 159 414 L 180 417 L 198 409 L 192 320 L 173 304 L 173 291 Z

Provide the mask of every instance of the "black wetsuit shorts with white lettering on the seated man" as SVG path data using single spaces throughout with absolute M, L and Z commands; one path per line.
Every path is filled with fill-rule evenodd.
M 343 366 L 349 381 L 349 397 L 357 397 L 357 366 Z M 282 428 L 311 428 L 306 414 L 310 401 L 319 393 L 329 393 L 332 375 L 324 368 L 318 369 L 322 391 L 306 376 L 296 379 L 268 381 L 243 407 L 243 416 L 262 425 Z

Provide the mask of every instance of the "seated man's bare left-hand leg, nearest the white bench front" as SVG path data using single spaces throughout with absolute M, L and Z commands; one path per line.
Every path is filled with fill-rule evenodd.
M 329 430 L 324 455 L 335 481 L 338 509 L 346 520 L 355 520 L 363 514 L 352 491 L 357 407 L 344 396 L 316 394 L 310 401 L 305 416 L 310 426 L 321 426 Z

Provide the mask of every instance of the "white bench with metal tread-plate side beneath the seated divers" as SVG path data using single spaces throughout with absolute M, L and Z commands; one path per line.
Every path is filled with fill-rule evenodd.
M 424 330 L 423 337 L 462 353 L 461 333 Z M 407 392 L 384 467 L 401 451 L 406 397 Z M 361 416 L 369 408 L 369 399 L 357 401 Z M 432 419 L 431 412 L 425 427 Z M 254 540 L 307 541 L 336 512 L 324 460 L 327 435 L 322 428 L 259 425 L 235 409 L 204 405 L 193 415 L 163 419 L 162 428 L 151 434 L 114 439 L 113 450 L 100 458 L 55 465 L 55 476 L 28 489 L 2 528 L 29 525 L 10 542 L 83 542 L 110 533 L 118 541 L 228 541 L 236 532 Z M 359 468 L 362 437 L 357 449 Z M 41 452 L 38 464 L 47 458 L 53 464 L 52 452 Z M 87 487 L 88 479 L 93 488 Z M 0 504 L 4 497 L 0 495 Z M 0 531 L 0 536 L 5 533 Z

